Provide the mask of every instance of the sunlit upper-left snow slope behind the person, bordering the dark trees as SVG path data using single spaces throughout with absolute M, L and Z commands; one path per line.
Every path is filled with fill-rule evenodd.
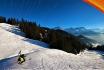
M 23 53 L 28 53 L 33 49 L 48 46 L 43 42 L 20 36 L 23 33 L 18 28 L 15 31 L 15 33 L 18 33 L 17 35 L 13 32 L 14 29 L 15 26 L 0 23 L 0 59 L 17 55 L 20 50 Z

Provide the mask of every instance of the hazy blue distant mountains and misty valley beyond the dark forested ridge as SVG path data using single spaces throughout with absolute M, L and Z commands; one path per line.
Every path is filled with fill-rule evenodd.
M 83 35 L 89 39 L 95 40 L 96 42 L 103 44 L 104 43 L 104 29 L 87 29 L 84 27 L 78 28 L 66 28 L 64 31 L 72 33 L 73 35 L 79 36 Z

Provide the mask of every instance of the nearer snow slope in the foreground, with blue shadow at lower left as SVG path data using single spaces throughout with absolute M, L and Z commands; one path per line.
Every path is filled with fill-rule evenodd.
M 23 64 L 18 64 L 17 59 L 13 57 L 0 61 L 1 70 L 104 70 L 104 59 L 90 51 L 74 55 L 55 49 L 41 49 L 27 54 Z

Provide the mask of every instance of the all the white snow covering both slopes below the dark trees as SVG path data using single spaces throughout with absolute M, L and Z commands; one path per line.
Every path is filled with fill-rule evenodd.
M 0 70 L 104 70 L 102 52 L 85 50 L 74 55 L 44 48 L 48 45 L 43 42 L 11 33 L 12 27 L 0 25 Z M 17 62 L 20 50 L 26 56 L 23 64 Z

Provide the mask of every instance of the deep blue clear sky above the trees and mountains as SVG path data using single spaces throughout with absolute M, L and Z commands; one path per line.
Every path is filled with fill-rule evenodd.
M 51 28 L 104 27 L 104 14 L 83 0 L 0 0 L 0 16 L 24 18 Z

